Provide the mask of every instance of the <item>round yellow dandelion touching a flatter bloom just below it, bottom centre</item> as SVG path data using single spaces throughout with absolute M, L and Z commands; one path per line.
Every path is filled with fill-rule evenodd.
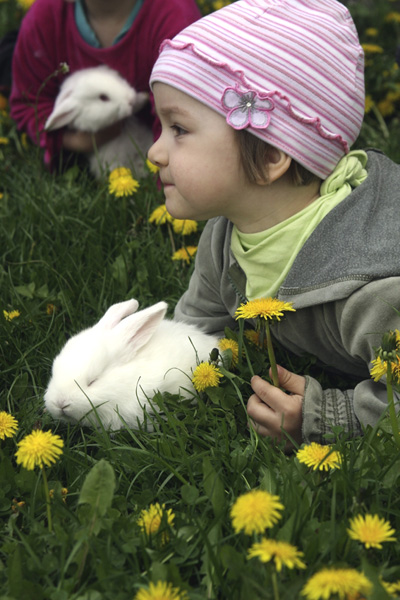
M 263 490 L 252 490 L 237 498 L 231 508 L 232 526 L 236 533 L 263 533 L 281 518 L 284 506 L 279 496 Z

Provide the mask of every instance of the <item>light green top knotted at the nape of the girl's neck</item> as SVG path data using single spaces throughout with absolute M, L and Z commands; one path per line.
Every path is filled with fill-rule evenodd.
M 367 155 L 353 150 L 344 156 L 320 188 L 320 197 L 289 219 L 266 231 L 232 231 L 232 252 L 246 273 L 248 300 L 276 296 L 301 248 L 317 225 L 354 187 L 367 178 Z

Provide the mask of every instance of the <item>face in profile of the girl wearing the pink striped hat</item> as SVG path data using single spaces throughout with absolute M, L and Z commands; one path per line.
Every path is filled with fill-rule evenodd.
M 234 130 L 224 117 L 169 85 L 155 83 L 153 91 L 162 134 L 149 159 L 160 167 L 169 213 L 197 221 L 225 216 L 238 223 L 247 212 L 251 184 Z

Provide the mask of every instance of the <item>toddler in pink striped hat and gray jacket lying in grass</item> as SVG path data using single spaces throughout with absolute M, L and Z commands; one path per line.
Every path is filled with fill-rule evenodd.
M 151 75 L 162 134 L 149 151 L 166 206 L 209 219 L 175 318 L 235 327 L 239 304 L 293 303 L 272 333 L 354 389 L 279 367 L 247 404 L 263 436 L 327 442 L 377 423 L 374 347 L 398 326 L 400 168 L 350 151 L 364 114 L 363 51 L 337 0 L 238 0 L 164 41 Z M 399 286 L 399 287 L 398 287 Z

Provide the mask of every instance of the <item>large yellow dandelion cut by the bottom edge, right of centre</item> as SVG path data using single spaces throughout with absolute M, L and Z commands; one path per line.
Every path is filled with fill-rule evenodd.
M 321 569 L 310 577 L 301 593 L 307 600 L 328 600 L 337 594 L 340 600 L 359 594 L 367 596 L 372 583 L 355 569 Z

